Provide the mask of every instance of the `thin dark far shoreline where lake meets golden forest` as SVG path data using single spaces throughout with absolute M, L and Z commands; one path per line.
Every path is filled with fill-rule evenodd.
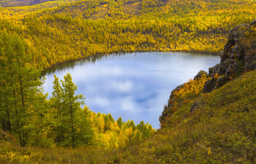
M 115 54 L 115 53 L 132 53 L 132 52 L 192 52 L 192 53 L 194 52 L 194 53 L 202 53 L 202 54 L 206 53 L 206 54 L 212 54 L 212 55 L 218 55 L 219 56 L 218 52 L 210 52 L 210 51 L 117 51 L 117 52 L 110 52 L 110 53 L 103 53 L 103 54 L 95 54 L 93 56 L 86 56 L 86 57 L 82 57 L 82 58 L 68 60 L 68 61 L 65 61 L 65 62 L 60 62 L 60 63 L 57 63 L 57 64 L 54 64 L 54 65 L 51 65 L 49 67 L 44 68 L 42 72 L 46 71 L 50 67 L 54 67 L 54 66 L 57 66 L 57 65 L 60 65 L 60 64 L 63 64 L 63 63 L 67 63 L 67 62 L 73 62 L 73 61 L 77 61 L 77 60 L 81 60 L 81 59 L 86 59 L 86 58 L 89 58 L 89 57 L 104 56 L 104 55 Z

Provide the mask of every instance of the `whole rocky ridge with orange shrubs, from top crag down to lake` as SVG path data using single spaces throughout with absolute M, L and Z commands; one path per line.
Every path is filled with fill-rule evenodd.
M 197 87 L 197 94 L 201 92 L 211 92 L 214 89 L 222 87 L 226 82 L 239 77 L 241 74 L 253 71 L 256 68 L 256 20 L 252 21 L 250 25 L 239 25 L 230 30 L 228 41 L 225 44 L 224 50 L 220 55 L 221 62 L 214 67 L 209 68 L 207 72 L 199 72 L 194 78 L 194 81 L 204 83 L 199 89 Z M 205 75 L 206 78 L 201 78 Z M 204 76 L 203 76 L 204 77 Z M 200 80 L 201 79 L 201 80 Z M 185 85 L 192 85 L 189 82 Z M 193 84 L 197 85 L 198 84 Z M 192 86 L 193 87 L 193 86 Z M 163 124 L 164 120 L 170 113 L 174 111 L 177 104 L 177 99 L 181 98 L 179 92 L 185 88 L 184 84 L 176 87 L 169 97 L 169 103 L 165 106 L 159 120 Z M 190 92 L 195 90 L 191 90 Z M 196 94 L 194 94 L 196 96 Z M 177 98 L 178 97 L 178 98 Z M 187 97 L 187 96 L 185 96 Z M 182 97 L 184 99 L 184 97 Z M 191 97 L 187 97 L 191 98 Z M 191 105 L 190 112 L 197 107 L 197 101 Z

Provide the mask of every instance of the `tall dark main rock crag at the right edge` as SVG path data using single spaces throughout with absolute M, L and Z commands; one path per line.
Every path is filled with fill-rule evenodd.
M 209 68 L 209 81 L 203 92 L 211 92 L 244 72 L 256 69 L 256 20 L 229 31 L 228 41 L 220 54 L 221 62 Z

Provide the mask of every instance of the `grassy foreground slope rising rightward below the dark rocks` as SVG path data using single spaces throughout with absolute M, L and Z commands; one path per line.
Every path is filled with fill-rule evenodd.
M 20 148 L 1 141 L 0 161 L 10 163 L 255 163 L 256 71 L 178 105 L 172 124 L 140 145 L 123 149 Z M 189 114 L 191 103 L 199 102 Z M 183 101 L 180 99 L 180 101 Z M 179 102 L 178 102 L 179 103 Z M 176 116 L 175 116 L 176 115 Z M 210 148 L 210 150 L 208 149 Z M 210 153 L 211 152 L 211 153 Z

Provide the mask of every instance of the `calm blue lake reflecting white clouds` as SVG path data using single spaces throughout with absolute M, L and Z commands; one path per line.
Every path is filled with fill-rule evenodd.
M 54 74 L 60 79 L 70 72 L 94 112 L 111 113 L 115 120 L 133 120 L 159 128 L 170 92 L 200 70 L 220 62 L 220 57 L 188 52 L 133 52 L 96 56 L 64 63 L 44 72 L 44 92 L 53 91 Z

